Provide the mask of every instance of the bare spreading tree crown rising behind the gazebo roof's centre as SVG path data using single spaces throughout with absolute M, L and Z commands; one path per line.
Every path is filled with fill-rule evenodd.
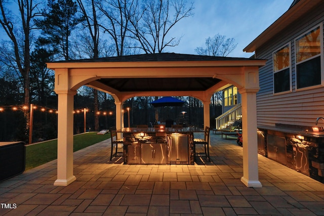
M 143 0 L 140 11 L 132 17 L 130 31 L 145 53 L 161 53 L 175 47 L 180 38 L 168 39 L 170 30 L 183 18 L 193 15 L 193 3 L 186 0 Z

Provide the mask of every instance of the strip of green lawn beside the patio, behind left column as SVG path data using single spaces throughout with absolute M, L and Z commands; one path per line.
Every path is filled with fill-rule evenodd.
M 97 135 L 97 132 L 75 135 L 73 152 L 110 138 L 110 134 Z M 26 170 L 57 159 L 57 140 L 26 146 Z

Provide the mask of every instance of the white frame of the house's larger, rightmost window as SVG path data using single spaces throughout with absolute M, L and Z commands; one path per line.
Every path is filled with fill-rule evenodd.
M 317 54 L 316 56 L 312 56 L 306 60 L 303 60 L 301 62 L 298 62 L 297 63 L 297 46 L 296 46 L 296 41 L 297 39 L 299 39 L 300 37 L 302 37 L 303 35 L 309 33 L 310 31 L 314 30 L 315 28 L 319 27 L 319 34 L 320 34 L 320 37 L 319 37 L 319 40 L 320 40 L 320 54 Z M 324 85 L 324 54 L 323 54 L 323 23 L 319 23 L 315 26 L 313 26 L 312 28 L 309 28 L 307 31 L 303 32 L 302 34 L 298 35 L 296 38 L 295 38 L 295 90 L 296 92 L 298 91 L 305 91 L 305 90 L 309 90 L 309 89 L 316 89 L 316 88 L 320 88 Z M 310 86 L 310 87 L 304 87 L 304 88 L 297 88 L 297 65 L 301 64 L 301 63 L 304 63 L 306 61 L 309 61 L 311 59 L 314 59 L 314 58 L 317 58 L 318 56 L 320 56 L 320 84 L 318 85 L 313 85 L 313 86 Z

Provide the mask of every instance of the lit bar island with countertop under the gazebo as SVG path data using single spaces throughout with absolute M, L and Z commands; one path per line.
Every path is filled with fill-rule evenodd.
M 125 164 L 194 164 L 195 127 L 125 127 L 117 130 L 124 137 Z

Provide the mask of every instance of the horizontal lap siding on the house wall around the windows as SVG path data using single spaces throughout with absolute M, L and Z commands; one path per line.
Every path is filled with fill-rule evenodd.
M 259 69 L 260 91 L 257 93 L 258 125 L 274 126 L 276 123 L 313 126 L 317 117 L 324 117 L 324 87 L 296 91 L 295 39 L 324 22 L 324 1 L 303 19 L 292 23 L 270 42 L 256 50 L 256 58 L 267 59 Z M 322 35 L 323 36 L 323 35 Z M 292 91 L 273 94 L 272 53 L 284 45 L 291 46 Z M 323 46 L 323 45 L 322 45 Z M 321 69 L 324 62 L 321 59 Z M 322 73 L 323 74 L 323 73 Z

